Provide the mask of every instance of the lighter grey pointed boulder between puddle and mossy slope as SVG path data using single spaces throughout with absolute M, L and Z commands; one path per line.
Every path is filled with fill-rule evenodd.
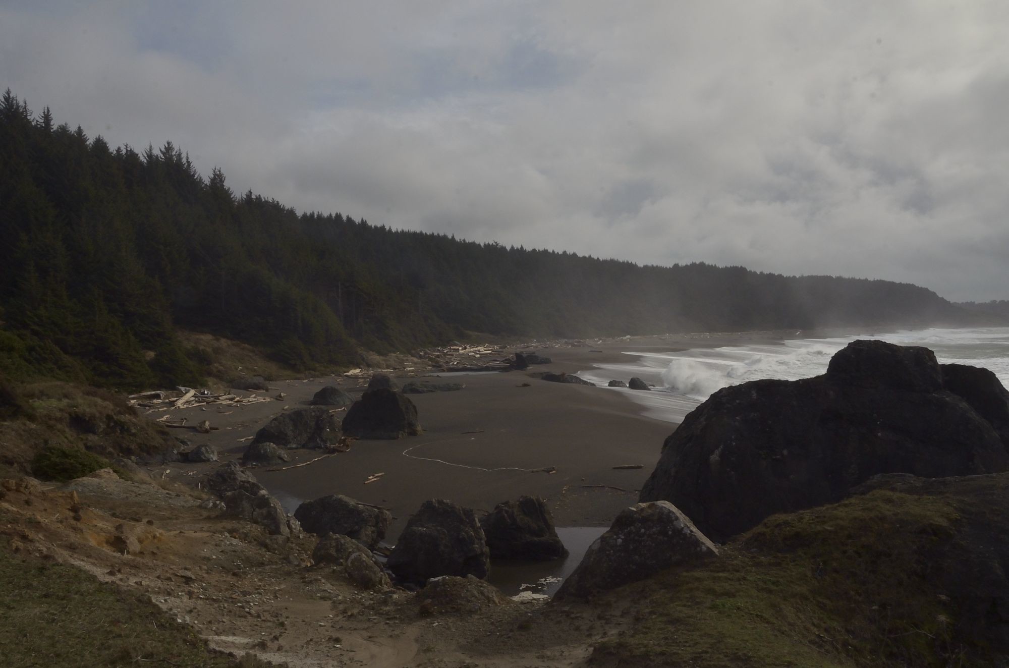
M 669 502 L 638 504 L 622 511 L 589 546 L 554 597 L 588 597 L 717 554 L 711 541 Z

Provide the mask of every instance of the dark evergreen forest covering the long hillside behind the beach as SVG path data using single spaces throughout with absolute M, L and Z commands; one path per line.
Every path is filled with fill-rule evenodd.
M 705 263 L 640 266 L 299 213 L 171 141 L 110 146 L 0 100 L 0 372 L 120 388 L 192 384 L 178 330 L 296 370 L 480 333 L 588 337 L 982 317 L 909 284 Z M 986 312 L 987 313 L 987 312 Z

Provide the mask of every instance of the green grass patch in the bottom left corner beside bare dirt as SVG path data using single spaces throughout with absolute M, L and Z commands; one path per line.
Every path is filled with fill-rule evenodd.
M 140 595 L 72 566 L 21 559 L 2 539 L 0 648 L 7 668 L 269 665 L 236 664 Z

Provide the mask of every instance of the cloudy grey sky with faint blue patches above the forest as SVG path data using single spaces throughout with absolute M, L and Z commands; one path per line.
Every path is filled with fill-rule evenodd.
M 299 211 L 987 301 L 1007 33 L 1004 0 L 0 0 L 0 88 Z

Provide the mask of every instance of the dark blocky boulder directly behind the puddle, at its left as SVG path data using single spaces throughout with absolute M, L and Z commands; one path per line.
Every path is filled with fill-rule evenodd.
M 520 496 L 498 504 L 480 519 L 480 528 L 493 559 L 548 561 L 568 553 L 542 498 Z

